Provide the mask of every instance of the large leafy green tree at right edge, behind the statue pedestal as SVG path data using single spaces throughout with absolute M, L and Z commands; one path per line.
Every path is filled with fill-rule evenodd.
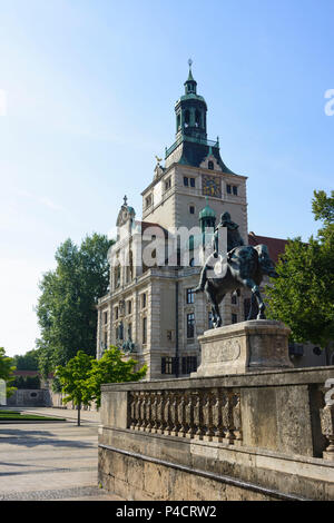
M 323 228 L 307 244 L 288 241 L 266 288 L 268 317 L 288 325 L 293 341 L 325 348 L 334 339 L 334 193 L 314 191 L 312 208 Z

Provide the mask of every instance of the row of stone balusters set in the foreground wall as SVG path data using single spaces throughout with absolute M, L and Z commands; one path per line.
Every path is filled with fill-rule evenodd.
M 240 444 L 240 391 L 134 391 L 128 396 L 132 431 Z

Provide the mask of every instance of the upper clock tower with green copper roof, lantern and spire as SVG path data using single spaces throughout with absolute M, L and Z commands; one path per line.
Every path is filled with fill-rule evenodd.
M 143 220 L 163 227 L 196 227 L 208 199 L 216 216 L 228 211 L 247 239 L 246 177 L 233 172 L 220 157 L 218 138 L 207 138 L 207 103 L 198 95 L 191 70 L 176 101 L 175 142 L 158 161 L 153 182 L 143 191 Z

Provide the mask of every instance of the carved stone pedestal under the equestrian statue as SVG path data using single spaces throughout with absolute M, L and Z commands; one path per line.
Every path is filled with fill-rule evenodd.
M 202 364 L 190 377 L 293 368 L 288 357 L 289 333 L 284 324 L 267 319 L 206 330 L 198 336 Z

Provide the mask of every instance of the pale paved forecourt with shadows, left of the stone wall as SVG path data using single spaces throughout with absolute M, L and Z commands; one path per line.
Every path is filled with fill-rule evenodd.
M 0 424 L 0 500 L 119 501 L 97 486 L 98 414 L 50 411 L 73 420 Z

